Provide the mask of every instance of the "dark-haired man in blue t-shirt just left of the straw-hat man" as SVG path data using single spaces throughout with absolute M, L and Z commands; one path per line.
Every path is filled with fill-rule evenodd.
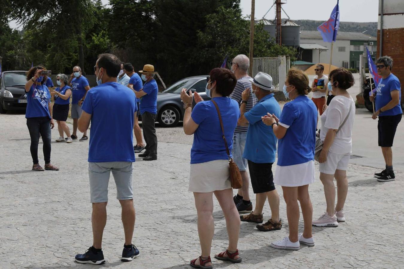
M 124 64 L 124 69 L 126 74 L 130 77 L 128 87 L 133 90 L 133 92 L 139 92 L 143 88 L 142 79 L 139 77 L 137 73 L 135 73 L 135 69 L 133 69 L 133 65 L 131 63 Z M 137 107 L 139 107 L 140 98 L 136 98 Z M 145 149 L 145 144 L 143 143 L 142 138 L 142 130 L 139 126 L 138 121 L 139 113 L 135 115 L 135 124 L 133 125 L 133 132 L 135 133 L 136 145 L 133 146 L 133 150 L 135 153 L 142 152 Z

